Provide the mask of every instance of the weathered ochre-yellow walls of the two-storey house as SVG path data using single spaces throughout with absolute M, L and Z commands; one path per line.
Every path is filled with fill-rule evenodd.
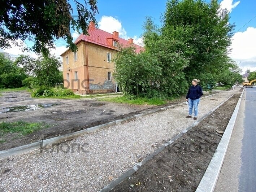
M 92 43 L 81 41 L 77 44 L 77 61 L 74 61 L 74 53 L 70 50 L 63 56 L 63 77 L 64 87 L 80 94 L 88 93 L 87 77 L 87 55 L 90 93 L 114 92 L 115 82 L 113 81 L 114 63 L 107 61 L 107 53 L 111 53 L 111 59 L 116 51 Z M 86 55 L 86 50 L 87 55 Z M 69 64 L 66 63 L 66 57 Z M 68 71 L 70 67 L 71 71 Z M 74 72 L 78 72 L 78 80 L 74 81 Z M 112 73 L 112 80 L 108 80 L 108 72 Z M 67 79 L 69 73 L 69 82 Z

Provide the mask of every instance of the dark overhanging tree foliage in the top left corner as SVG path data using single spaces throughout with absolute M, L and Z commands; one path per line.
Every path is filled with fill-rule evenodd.
M 69 0 L 5 0 L 0 7 L 0 48 L 11 47 L 10 42 L 29 39 L 34 41 L 31 48 L 36 53 L 48 53 L 54 47 L 55 39 L 63 38 L 70 49 L 77 50 L 73 43 L 70 25 L 87 34 L 88 21 L 95 21 L 97 0 L 84 0 L 84 4 L 74 0 L 77 17 L 72 17 L 73 9 Z M 7 29 L 7 30 L 6 30 Z M 21 46 L 21 45 L 20 45 Z

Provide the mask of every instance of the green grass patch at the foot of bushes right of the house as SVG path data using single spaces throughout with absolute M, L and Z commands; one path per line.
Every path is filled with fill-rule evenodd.
M 99 101 L 109 101 L 109 102 L 116 102 L 116 103 L 128 103 L 128 104 L 134 104 L 134 105 L 164 105 L 167 102 L 165 100 L 159 99 L 159 98 L 142 98 L 138 97 L 135 99 L 127 99 L 125 96 L 121 97 L 112 97 L 112 98 L 102 98 L 98 99 Z

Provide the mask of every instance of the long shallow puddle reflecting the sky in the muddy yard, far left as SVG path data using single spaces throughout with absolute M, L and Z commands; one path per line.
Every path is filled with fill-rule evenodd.
M 5 111 L 0 112 L 0 113 L 30 111 L 30 110 L 43 109 L 43 108 L 51 107 L 53 105 L 58 105 L 58 104 L 38 104 L 38 105 L 22 105 L 22 106 L 4 107 L 2 109 L 4 109 Z

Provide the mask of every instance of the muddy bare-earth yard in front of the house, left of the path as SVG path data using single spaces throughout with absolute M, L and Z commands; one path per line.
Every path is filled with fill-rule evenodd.
M 29 144 L 41 139 L 49 139 L 70 132 L 101 125 L 156 108 L 174 105 L 185 101 L 181 97 L 165 105 L 130 105 L 97 101 L 97 99 L 35 99 L 29 92 L 3 92 L 0 97 L 0 121 L 45 122 L 49 128 L 33 132 L 30 135 L 11 133 L 0 136 L 0 150 L 10 149 Z M 204 95 L 206 96 L 206 95 Z M 30 105 L 45 106 L 42 109 L 5 113 L 9 107 Z M 18 109 L 19 109 L 18 107 Z M 11 109 L 10 109 L 11 110 Z M 10 111 L 9 110 L 9 111 Z

